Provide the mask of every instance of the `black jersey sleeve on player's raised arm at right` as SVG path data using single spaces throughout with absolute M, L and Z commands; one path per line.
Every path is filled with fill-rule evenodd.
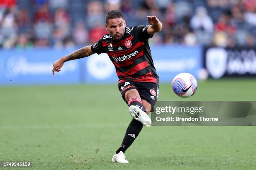
M 147 41 L 149 38 L 153 37 L 154 34 L 148 34 L 149 25 L 139 25 L 133 29 L 133 36 L 138 37 L 142 42 Z

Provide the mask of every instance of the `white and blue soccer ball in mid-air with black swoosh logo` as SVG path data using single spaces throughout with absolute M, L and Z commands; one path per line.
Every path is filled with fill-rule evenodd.
M 180 73 L 172 80 L 172 89 L 179 97 L 190 97 L 197 91 L 197 80 L 192 74 Z

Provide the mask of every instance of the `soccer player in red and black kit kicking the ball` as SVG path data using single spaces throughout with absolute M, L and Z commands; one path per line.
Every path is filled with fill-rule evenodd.
M 118 10 L 107 13 L 103 35 L 93 45 L 83 47 L 61 57 L 53 64 L 52 73 L 61 71 L 64 62 L 88 57 L 94 53 L 107 53 L 115 65 L 118 88 L 128 104 L 133 119 L 129 124 L 123 142 L 112 158 L 115 163 L 128 163 L 125 151 L 138 137 L 143 125 L 151 126 L 149 112 L 154 110 L 158 93 L 159 78 L 151 57 L 148 39 L 162 30 L 162 23 L 156 16 L 147 16 L 149 25 L 126 27 L 123 14 Z

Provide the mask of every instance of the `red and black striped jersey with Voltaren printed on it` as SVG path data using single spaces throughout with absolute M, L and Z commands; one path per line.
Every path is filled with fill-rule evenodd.
M 118 84 L 125 80 L 159 83 L 148 45 L 148 38 L 153 36 L 148 34 L 148 26 L 126 27 L 121 40 L 113 41 L 107 34 L 92 45 L 92 52 L 108 54 L 115 65 Z

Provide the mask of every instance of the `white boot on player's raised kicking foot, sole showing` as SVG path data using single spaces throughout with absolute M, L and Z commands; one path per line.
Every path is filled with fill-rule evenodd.
M 140 108 L 134 105 L 131 105 L 129 110 L 133 119 L 138 120 L 146 127 L 152 126 L 151 119 L 146 112 L 143 112 Z

